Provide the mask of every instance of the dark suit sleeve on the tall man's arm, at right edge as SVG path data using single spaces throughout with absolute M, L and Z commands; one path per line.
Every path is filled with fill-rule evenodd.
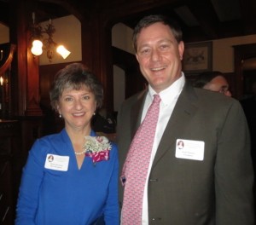
M 253 164 L 247 122 L 238 102 L 230 106 L 217 134 L 216 225 L 253 225 Z

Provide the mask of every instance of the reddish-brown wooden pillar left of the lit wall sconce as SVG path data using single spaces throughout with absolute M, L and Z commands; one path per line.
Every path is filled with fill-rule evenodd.
M 12 84 L 15 96 L 13 106 L 15 116 L 41 116 L 39 106 L 38 59 L 30 52 L 29 22 L 32 10 L 31 0 L 12 0 L 16 7 L 11 10 L 12 19 L 10 42 L 16 43 L 15 79 Z

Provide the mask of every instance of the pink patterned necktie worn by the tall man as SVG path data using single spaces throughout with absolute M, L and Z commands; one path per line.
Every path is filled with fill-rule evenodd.
M 121 175 L 121 181 L 125 186 L 122 225 L 142 224 L 143 193 L 159 116 L 160 101 L 160 95 L 154 95 L 154 101 L 148 108 L 148 113 L 138 128 L 125 159 Z

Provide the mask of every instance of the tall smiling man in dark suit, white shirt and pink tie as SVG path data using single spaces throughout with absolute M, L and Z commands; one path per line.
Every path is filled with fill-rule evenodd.
M 241 105 L 189 85 L 182 72 L 182 32 L 166 17 L 150 15 L 139 21 L 133 43 L 149 85 L 126 100 L 118 115 L 119 159 L 121 166 L 125 164 L 120 185 L 122 224 L 253 224 L 253 167 Z M 131 172 L 143 170 L 132 163 L 144 158 L 144 152 L 129 154 L 129 147 L 157 94 L 160 113 L 143 206 L 127 218 L 129 207 L 137 204 L 137 199 L 128 198 L 128 193 L 137 196 L 132 181 L 141 182 Z M 179 141 L 182 148 L 177 147 Z

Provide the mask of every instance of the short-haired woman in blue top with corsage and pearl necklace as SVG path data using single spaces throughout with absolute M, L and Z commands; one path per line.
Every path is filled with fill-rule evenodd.
M 90 128 L 102 96 L 102 84 L 82 64 L 56 74 L 50 101 L 65 128 L 32 146 L 15 224 L 84 225 L 102 216 L 119 224 L 117 147 Z

